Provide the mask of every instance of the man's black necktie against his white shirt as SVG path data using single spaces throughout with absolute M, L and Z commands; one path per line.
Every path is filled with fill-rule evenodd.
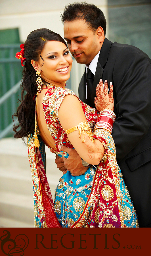
M 91 95 L 92 95 L 92 90 L 93 90 L 93 81 L 94 81 L 94 75 L 91 72 L 91 70 L 88 68 L 87 69 L 87 74 L 86 74 L 86 83 L 87 83 L 87 104 L 91 104 Z

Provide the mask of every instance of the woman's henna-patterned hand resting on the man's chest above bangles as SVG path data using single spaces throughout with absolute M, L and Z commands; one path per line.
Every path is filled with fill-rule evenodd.
M 96 88 L 96 95 L 95 97 L 95 106 L 98 112 L 103 109 L 109 109 L 114 111 L 114 98 L 113 98 L 113 85 L 112 82 L 110 83 L 110 93 L 108 94 L 108 82 L 107 80 L 104 81 L 104 88 L 103 88 L 103 81 L 100 79 L 99 84 Z

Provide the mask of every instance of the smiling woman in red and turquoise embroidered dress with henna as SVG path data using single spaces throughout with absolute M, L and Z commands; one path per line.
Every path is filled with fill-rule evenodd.
M 116 163 L 111 135 L 116 118 L 112 83 L 108 94 L 107 81 L 103 88 L 100 80 L 97 110 L 93 109 L 65 88 L 72 57 L 60 35 L 48 29 L 34 30 L 20 47 L 16 57 L 25 65 L 22 100 L 14 114 L 19 121 L 14 137 L 27 137 L 35 227 L 139 227 Z M 60 152 L 61 146 L 74 148 L 91 164 L 77 176 L 64 172 L 54 202 L 45 174 L 45 145 L 66 158 L 68 154 Z

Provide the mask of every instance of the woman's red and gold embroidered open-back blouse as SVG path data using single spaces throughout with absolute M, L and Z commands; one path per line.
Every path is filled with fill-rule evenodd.
M 58 119 L 58 110 L 60 108 L 60 105 L 64 97 L 68 94 L 74 95 L 77 97 L 77 95 L 72 90 L 68 88 L 63 88 L 63 87 L 50 88 L 49 90 L 47 90 L 46 94 L 43 97 L 43 112 L 45 115 L 45 120 L 47 123 L 48 130 L 56 143 L 56 149 L 54 150 L 56 154 L 58 154 L 57 152 L 59 152 L 57 148 L 58 145 L 73 148 L 72 144 L 70 143 L 66 135 L 66 132 L 62 129 L 62 126 L 60 125 L 60 122 Z M 81 102 L 80 99 L 79 101 Z M 79 126 L 80 128 L 79 131 L 82 134 L 83 131 L 89 130 L 88 133 L 90 134 L 90 137 L 93 140 L 91 129 L 94 128 L 94 125 L 99 113 L 97 112 L 97 110 L 95 110 L 94 108 L 91 108 L 90 106 L 88 106 L 83 102 L 81 102 L 81 106 L 83 108 L 83 112 L 85 113 L 89 127 L 83 127 L 83 125 Z M 84 137 L 84 133 L 83 133 L 83 137 Z

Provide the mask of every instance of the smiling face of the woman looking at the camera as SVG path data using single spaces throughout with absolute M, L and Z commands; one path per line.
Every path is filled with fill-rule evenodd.
M 41 73 L 41 78 L 49 83 L 62 83 L 70 78 L 72 67 L 72 57 L 69 54 L 68 48 L 62 42 L 48 41 L 37 65 Z M 40 66 L 43 64 L 40 70 Z

